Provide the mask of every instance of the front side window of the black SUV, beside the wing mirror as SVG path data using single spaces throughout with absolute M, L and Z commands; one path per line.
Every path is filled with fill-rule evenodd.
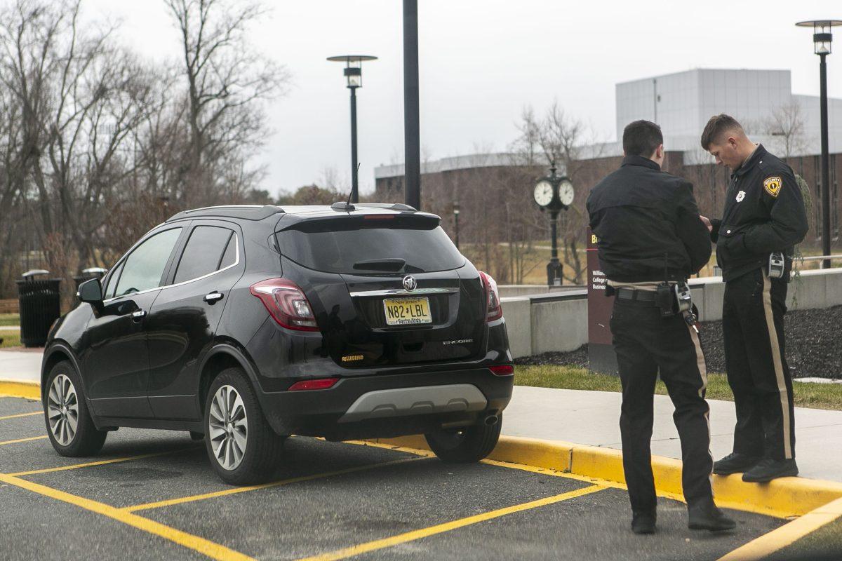
M 169 254 L 179 241 L 181 228 L 157 233 L 132 251 L 125 260 L 115 296 L 140 292 L 161 285 L 161 275 L 167 267 Z

